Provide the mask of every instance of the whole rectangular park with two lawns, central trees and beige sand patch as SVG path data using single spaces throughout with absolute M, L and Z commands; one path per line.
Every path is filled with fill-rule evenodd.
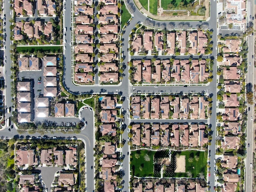
M 132 176 L 206 178 L 207 152 L 198 150 L 135 150 L 131 152 Z M 185 169 L 184 169 L 185 167 Z

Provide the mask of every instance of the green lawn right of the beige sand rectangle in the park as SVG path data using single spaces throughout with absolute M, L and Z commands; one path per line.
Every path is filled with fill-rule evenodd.
M 180 155 L 186 155 L 186 172 L 191 172 L 192 177 L 198 177 L 202 173 L 205 178 L 207 174 L 207 154 L 206 152 L 200 152 L 196 150 L 178 152 Z M 189 162 L 189 157 L 199 156 L 199 160 L 196 161 L 193 158 L 193 162 Z M 175 177 L 186 177 L 187 173 L 175 173 Z

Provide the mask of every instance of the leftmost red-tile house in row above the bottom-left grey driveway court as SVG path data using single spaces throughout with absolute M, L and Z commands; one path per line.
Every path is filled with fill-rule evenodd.
M 38 165 L 35 150 L 19 149 L 16 150 L 16 165 Z

